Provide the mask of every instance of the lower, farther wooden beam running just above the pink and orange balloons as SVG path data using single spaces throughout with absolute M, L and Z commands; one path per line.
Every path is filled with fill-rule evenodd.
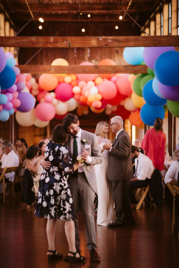
M 49 65 L 18 65 L 21 73 L 147 73 L 146 65 L 110 65 L 110 66 L 49 66 Z

